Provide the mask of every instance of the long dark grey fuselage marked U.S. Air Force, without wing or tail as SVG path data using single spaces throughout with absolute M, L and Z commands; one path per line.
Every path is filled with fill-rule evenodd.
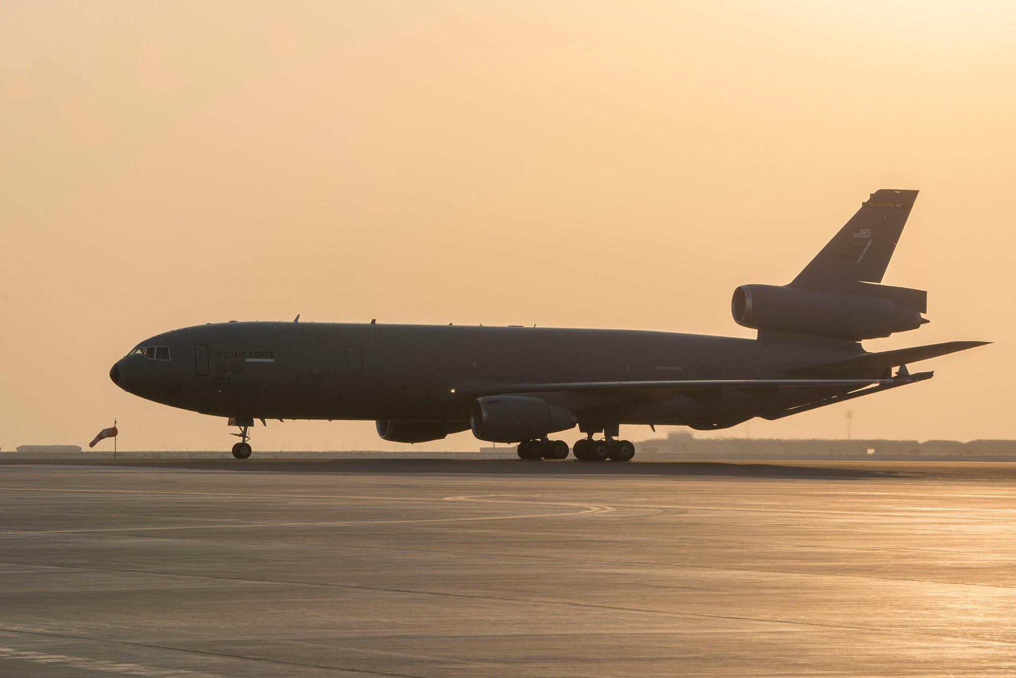
M 169 346 L 171 359 L 122 358 L 119 386 L 173 407 L 272 419 L 448 421 L 467 421 L 470 394 L 496 393 L 498 384 L 780 379 L 784 365 L 861 352 L 847 342 L 632 330 L 276 322 L 198 325 L 139 345 Z M 604 408 L 620 423 L 728 425 L 842 392 L 606 398 Z

